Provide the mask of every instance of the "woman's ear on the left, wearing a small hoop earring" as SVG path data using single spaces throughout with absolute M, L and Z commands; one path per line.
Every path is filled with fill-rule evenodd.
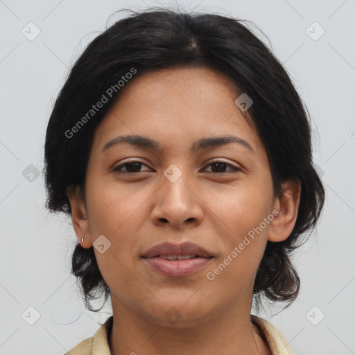
M 71 207 L 71 220 L 73 228 L 78 238 L 79 243 L 83 248 L 90 248 L 92 246 L 92 238 L 89 231 L 89 220 L 87 218 L 87 207 L 83 193 L 80 187 L 73 187 L 72 185 L 67 188 L 67 196 L 69 198 Z M 84 238 L 83 243 L 81 240 Z

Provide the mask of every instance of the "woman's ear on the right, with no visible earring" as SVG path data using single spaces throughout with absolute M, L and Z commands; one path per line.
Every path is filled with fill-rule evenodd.
M 295 227 L 300 205 L 301 182 L 298 179 L 289 180 L 282 184 L 282 189 L 284 193 L 274 202 L 273 210 L 279 211 L 279 214 L 270 223 L 268 241 L 286 240 Z

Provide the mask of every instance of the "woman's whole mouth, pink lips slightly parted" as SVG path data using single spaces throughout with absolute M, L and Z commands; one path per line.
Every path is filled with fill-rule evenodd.
M 205 268 L 214 256 L 194 243 L 162 243 L 150 248 L 141 258 L 159 275 L 184 277 Z

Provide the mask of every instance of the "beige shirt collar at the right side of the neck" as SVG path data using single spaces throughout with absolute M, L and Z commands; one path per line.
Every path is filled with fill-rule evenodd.
M 270 346 L 272 354 L 293 355 L 287 340 L 270 322 L 263 318 L 257 317 L 257 315 L 252 315 L 252 322 L 261 331 L 264 340 L 266 340 Z

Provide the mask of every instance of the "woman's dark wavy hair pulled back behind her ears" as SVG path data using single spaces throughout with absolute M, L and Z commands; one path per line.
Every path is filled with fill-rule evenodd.
M 243 22 L 250 21 L 155 8 L 132 12 L 98 35 L 71 68 L 49 119 L 46 207 L 71 214 L 67 187 L 78 186 L 84 191 L 94 131 L 119 96 L 119 89 L 80 125 L 75 137 L 69 137 L 68 132 L 125 73 L 135 68 L 136 78 L 147 71 L 181 66 L 213 69 L 252 98 L 248 114 L 266 149 L 275 193 L 281 196 L 282 182 L 287 179 L 301 182 L 295 227 L 285 241 L 268 241 L 254 283 L 257 305 L 261 295 L 271 302 L 291 304 L 300 279 L 290 255 L 305 240 L 301 236 L 308 236 L 315 227 L 324 203 L 324 187 L 312 162 L 306 107 L 282 64 Z M 72 273 L 80 281 L 87 308 L 96 311 L 90 301 L 98 292 L 106 302 L 110 288 L 98 269 L 93 248 L 76 245 Z

